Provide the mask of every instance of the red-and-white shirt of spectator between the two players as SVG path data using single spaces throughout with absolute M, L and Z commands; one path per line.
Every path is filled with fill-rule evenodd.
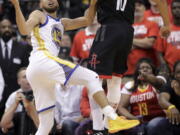
M 79 31 L 73 40 L 70 56 L 85 59 L 89 57 L 89 51 L 94 41 L 95 34 L 88 29 Z

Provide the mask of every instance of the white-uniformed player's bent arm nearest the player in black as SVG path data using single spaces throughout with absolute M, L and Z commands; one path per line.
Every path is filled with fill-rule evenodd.
M 65 30 L 78 29 L 92 24 L 96 14 L 96 2 L 97 0 L 91 0 L 90 7 L 83 17 L 78 17 L 75 19 L 63 18 L 62 23 Z

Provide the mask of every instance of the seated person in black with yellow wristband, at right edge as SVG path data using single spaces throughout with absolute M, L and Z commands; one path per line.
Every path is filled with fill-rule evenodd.
M 159 103 L 166 110 L 167 118 L 156 118 L 158 121 L 151 127 L 148 135 L 179 135 L 180 133 L 180 61 L 174 64 L 174 79 L 161 89 Z

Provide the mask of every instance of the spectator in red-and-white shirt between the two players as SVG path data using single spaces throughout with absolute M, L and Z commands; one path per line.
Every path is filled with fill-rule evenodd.
M 75 63 L 88 58 L 98 28 L 99 24 L 96 17 L 93 24 L 76 33 L 70 53 Z

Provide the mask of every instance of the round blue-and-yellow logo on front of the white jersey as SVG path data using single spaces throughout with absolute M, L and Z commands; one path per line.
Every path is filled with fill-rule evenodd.
M 62 32 L 57 24 L 52 26 L 51 36 L 52 36 L 52 41 L 57 46 L 57 48 L 59 48 L 61 45 Z

